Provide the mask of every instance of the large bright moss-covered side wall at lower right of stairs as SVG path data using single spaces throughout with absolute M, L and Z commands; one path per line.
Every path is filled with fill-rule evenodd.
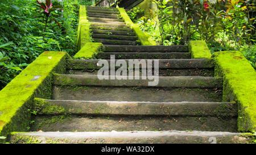
M 223 76 L 223 101 L 238 103 L 238 131 L 256 131 L 256 72 L 239 51 L 215 52 L 215 76 Z

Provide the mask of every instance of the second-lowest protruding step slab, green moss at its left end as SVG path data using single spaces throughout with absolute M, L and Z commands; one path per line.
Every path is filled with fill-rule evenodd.
M 117 102 L 85 100 L 51 100 L 35 98 L 38 115 L 105 116 L 215 116 L 237 117 L 237 104 L 230 102 Z M 62 110 L 49 111 L 49 107 Z

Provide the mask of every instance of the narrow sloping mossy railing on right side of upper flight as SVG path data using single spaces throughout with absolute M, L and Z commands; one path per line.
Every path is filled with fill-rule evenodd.
M 142 45 L 156 45 L 156 42 L 152 39 L 150 39 L 150 36 L 146 35 L 144 32 L 141 31 L 138 24 L 134 24 L 129 16 L 127 15 L 125 9 L 119 7 L 117 8 L 119 13 L 121 14 L 123 20 L 125 20 L 125 24 L 132 28 L 134 32 L 136 33 L 139 41 L 141 41 Z

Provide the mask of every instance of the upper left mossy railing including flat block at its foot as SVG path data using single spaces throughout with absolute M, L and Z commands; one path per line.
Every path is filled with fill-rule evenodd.
M 102 43 L 92 43 L 90 37 L 90 22 L 87 20 L 86 7 L 80 5 L 79 26 L 77 30 L 77 47 L 79 51 L 74 58 L 94 58 L 101 51 Z

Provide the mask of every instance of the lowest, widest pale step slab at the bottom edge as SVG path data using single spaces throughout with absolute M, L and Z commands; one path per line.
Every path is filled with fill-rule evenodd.
M 25 144 L 245 144 L 253 141 L 251 133 L 205 131 L 22 132 L 13 133 L 10 137 L 10 143 Z

